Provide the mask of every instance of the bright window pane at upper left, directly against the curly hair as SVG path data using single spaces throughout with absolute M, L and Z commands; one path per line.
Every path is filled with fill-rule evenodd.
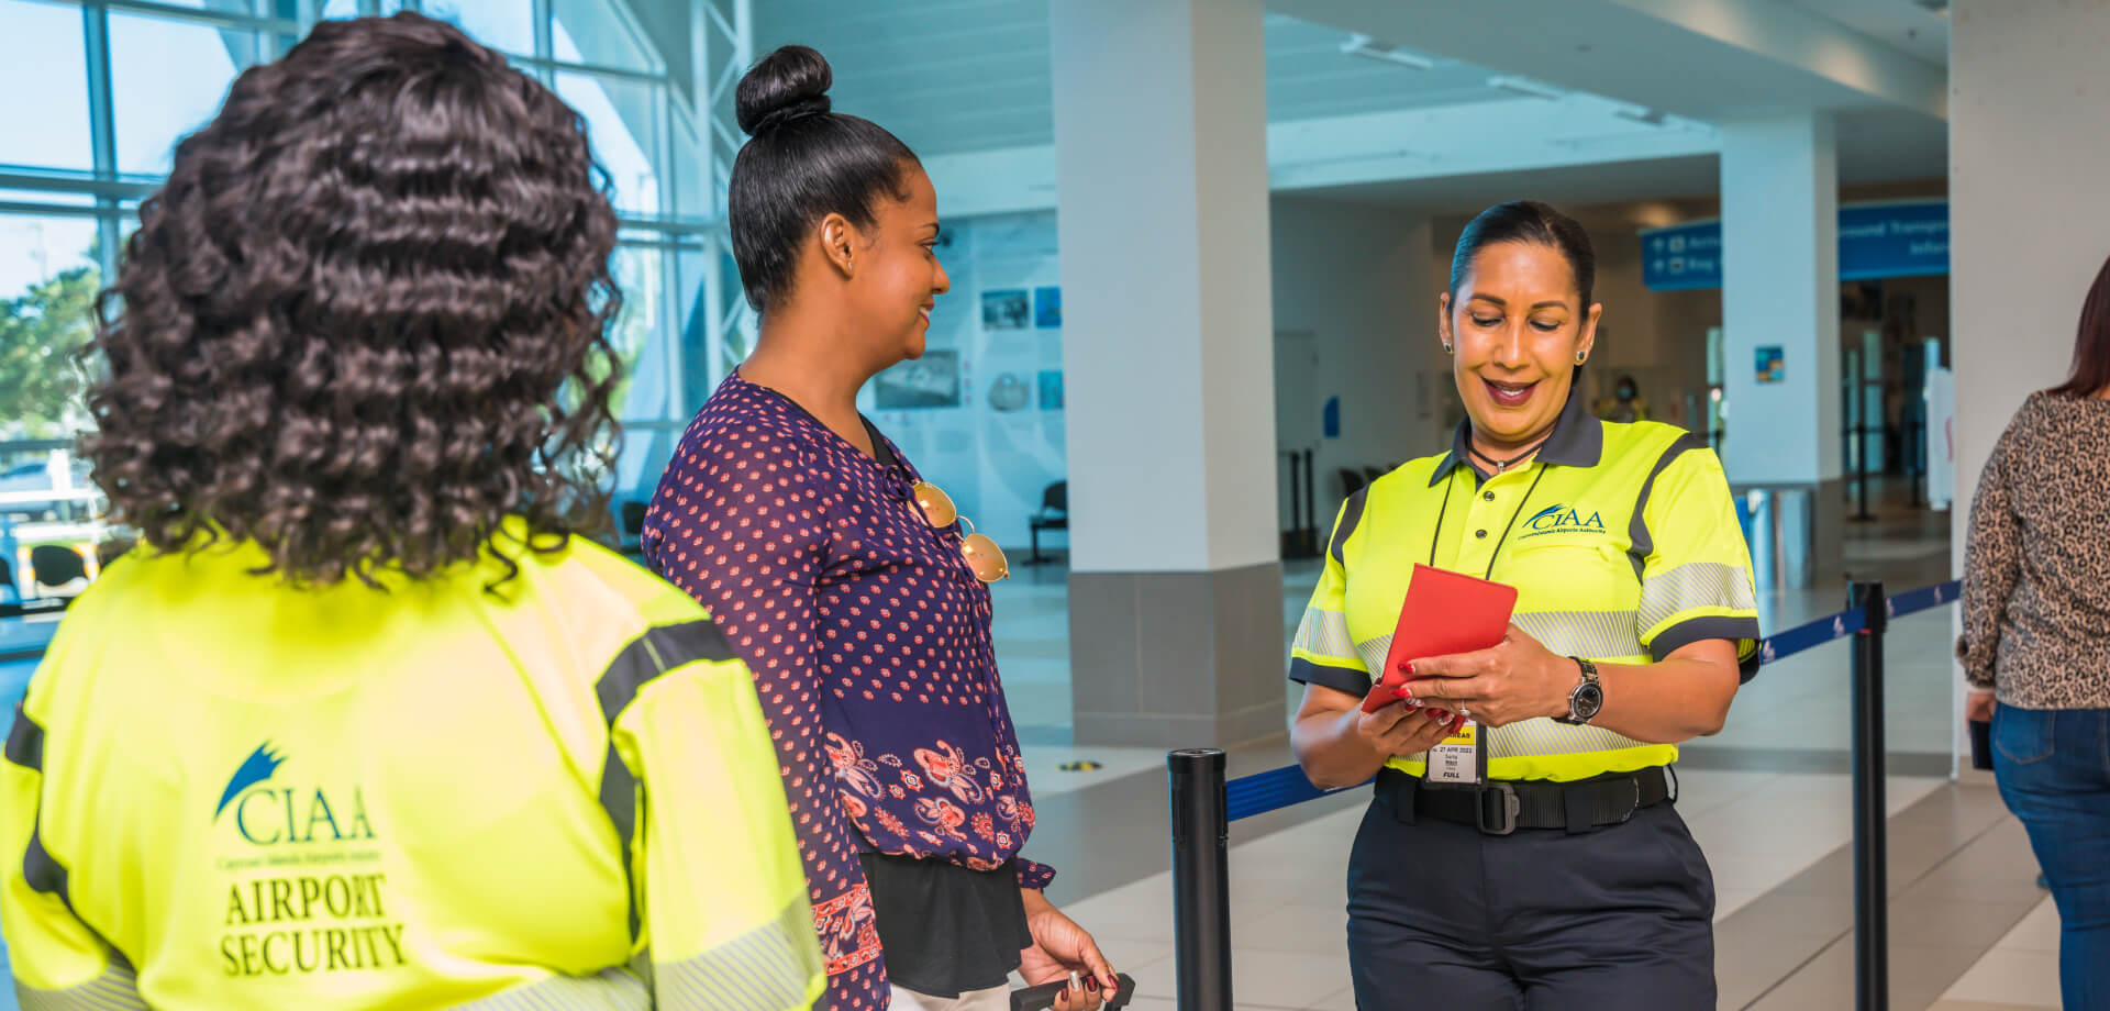
M 110 13 L 118 171 L 165 175 L 175 141 L 219 112 L 234 74 L 257 61 L 249 30 Z

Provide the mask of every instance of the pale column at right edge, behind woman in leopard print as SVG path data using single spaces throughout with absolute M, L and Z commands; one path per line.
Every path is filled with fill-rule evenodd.
M 2104 118 L 2106 44 L 2104 0 L 1950 6 L 1958 576 L 1979 471 L 2015 407 L 2066 380 L 2080 302 L 2110 253 L 2110 135 L 2091 127 Z

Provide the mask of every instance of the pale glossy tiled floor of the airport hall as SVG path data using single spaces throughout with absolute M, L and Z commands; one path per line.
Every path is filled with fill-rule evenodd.
M 1905 591 L 1948 578 L 1948 519 L 1884 511 L 1848 532 L 1855 578 Z M 1293 629 L 1315 568 L 1285 572 Z M 1063 867 L 1051 895 L 1139 981 L 1137 1009 L 1173 1007 L 1165 775 L 1152 749 L 1066 747 L 1068 625 L 1059 566 L 998 587 L 998 656 L 1025 724 L 1042 800 L 1034 855 Z M 1766 593 L 1768 631 L 1844 606 L 1844 587 Z M 1891 1007 L 2057 1007 L 2055 916 L 2019 825 L 1983 777 L 1950 781 L 1952 610 L 1886 637 Z M 1768 665 L 1722 735 L 1682 762 L 1680 810 L 1715 874 L 1720 1007 L 1853 1007 L 1848 644 Z M 1053 762 L 1099 758 L 1066 781 Z M 1277 741 L 1234 751 L 1232 775 L 1287 760 Z M 1129 777 L 1118 768 L 1135 768 Z M 1040 787 L 1042 781 L 1055 781 Z M 1350 1009 L 1344 865 L 1353 791 L 1232 827 L 1234 996 L 1249 1009 Z M 2047 941 L 2049 937 L 2049 941 Z M 1996 1003 L 2004 1000 L 2004 1003 Z

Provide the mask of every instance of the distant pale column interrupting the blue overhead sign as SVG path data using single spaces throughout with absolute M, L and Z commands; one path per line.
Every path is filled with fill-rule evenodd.
M 1812 578 L 1838 572 L 1840 268 L 1831 116 L 1798 112 L 1722 125 L 1722 336 L 1737 488 L 1781 492 L 1781 549 Z M 1758 350 L 1781 348 L 1781 382 Z

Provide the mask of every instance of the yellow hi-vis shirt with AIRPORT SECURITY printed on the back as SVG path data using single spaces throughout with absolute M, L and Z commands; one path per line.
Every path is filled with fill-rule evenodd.
M 34 1009 L 791 1009 L 825 977 L 753 680 L 587 540 L 291 589 L 141 553 L 6 739 Z

